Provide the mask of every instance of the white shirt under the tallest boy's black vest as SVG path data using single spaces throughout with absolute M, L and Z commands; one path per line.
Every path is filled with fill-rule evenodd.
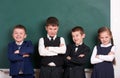
M 47 35 L 47 37 L 51 40 L 51 38 Z M 55 39 L 56 36 L 53 37 L 53 39 Z M 58 54 L 65 54 L 66 52 L 66 44 L 65 44 L 65 40 L 63 37 L 60 37 L 60 44 L 62 44 L 62 46 L 58 46 L 58 47 L 48 47 L 48 49 L 45 48 L 44 45 L 44 39 L 40 38 L 39 39 L 39 46 L 38 46 L 38 50 L 39 50 L 39 54 L 40 56 L 56 56 Z

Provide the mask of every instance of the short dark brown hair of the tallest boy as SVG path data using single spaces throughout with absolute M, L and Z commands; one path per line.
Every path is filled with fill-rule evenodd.
M 49 26 L 49 25 L 52 25 L 52 26 L 59 26 L 59 21 L 56 17 L 49 17 L 47 20 L 46 20 L 46 26 Z

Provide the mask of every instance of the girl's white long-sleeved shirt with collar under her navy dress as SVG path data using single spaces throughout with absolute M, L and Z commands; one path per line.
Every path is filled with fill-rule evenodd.
M 111 45 L 112 44 L 109 43 L 108 45 L 101 44 L 100 46 L 101 47 L 109 47 Z M 112 46 L 110 52 L 115 53 L 115 46 Z M 99 55 L 98 58 L 96 58 L 96 55 L 97 55 L 97 47 L 95 46 L 94 49 L 93 49 L 92 56 L 91 56 L 91 64 L 96 64 L 96 63 L 100 63 L 100 62 L 103 62 L 103 61 L 111 61 L 112 62 L 114 57 L 115 57 L 115 54 L 113 54 L 113 55 Z

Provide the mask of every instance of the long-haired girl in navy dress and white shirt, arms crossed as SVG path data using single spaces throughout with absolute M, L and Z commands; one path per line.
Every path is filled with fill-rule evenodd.
M 112 33 L 109 28 L 101 27 L 98 30 L 99 45 L 93 49 L 91 63 L 94 64 L 91 78 L 114 78 L 113 59 L 115 46 L 112 42 Z

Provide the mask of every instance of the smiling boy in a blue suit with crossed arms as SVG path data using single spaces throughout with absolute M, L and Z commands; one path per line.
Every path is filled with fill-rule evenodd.
M 12 34 L 14 41 L 8 44 L 8 59 L 12 78 L 34 78 L 30 55 L 33 53 L 31 41 L 25 41 L 26 28 L 16 25 Z

